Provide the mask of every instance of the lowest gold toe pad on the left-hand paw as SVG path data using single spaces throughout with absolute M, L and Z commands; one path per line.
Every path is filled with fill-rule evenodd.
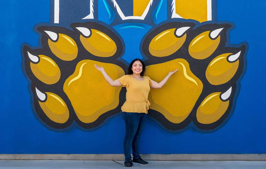
M 47 94 L 47 100 L 45 102 L 39 101 L 41 109 L 50 120 L 56 123 L 65 123 L 69 118 L 69 110 L 66 103 L 54 93 L 45 93 Z

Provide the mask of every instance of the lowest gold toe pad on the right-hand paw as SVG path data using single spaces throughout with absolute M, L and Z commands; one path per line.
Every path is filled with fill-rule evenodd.
M 229 106 L 229 100 L 220 99 L 221 92 L 209 94 L 198 107 L 196 117 L 202 124 L 214 123 L 225 113 Z

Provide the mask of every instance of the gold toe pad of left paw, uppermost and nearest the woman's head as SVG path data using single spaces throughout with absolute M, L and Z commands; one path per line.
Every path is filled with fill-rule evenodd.
M 90 37 L 80 35 L 80 41 L 92 55 L 99 57 L 113 56 L 117 50 L 115 42 L 105 33 L 91 29 Z

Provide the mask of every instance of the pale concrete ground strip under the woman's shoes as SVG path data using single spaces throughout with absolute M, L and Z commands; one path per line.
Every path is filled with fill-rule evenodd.
M 158 169 L 266 169 L 266 161 L 148 161 L 148 166 L 133 168 Z M 127 168 L 124 161 L 115 160 L 0 160 L 0 169 L 117 169 Z

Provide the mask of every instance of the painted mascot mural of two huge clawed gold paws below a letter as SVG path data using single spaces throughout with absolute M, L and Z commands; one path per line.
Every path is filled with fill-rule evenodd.
M 148 116 L 169 132 L 222 127 L 234 111 L 247 44 L 229 43 L 234 25 L 216 21 L 211 0 L 51 0 L 51 21 L 34 27 L 39 46 L 22 45 L 32 110 L 48 129 L 95 130 L 121 113 L 125 88 L 111 87 L 132 59 L 161 81 Z

